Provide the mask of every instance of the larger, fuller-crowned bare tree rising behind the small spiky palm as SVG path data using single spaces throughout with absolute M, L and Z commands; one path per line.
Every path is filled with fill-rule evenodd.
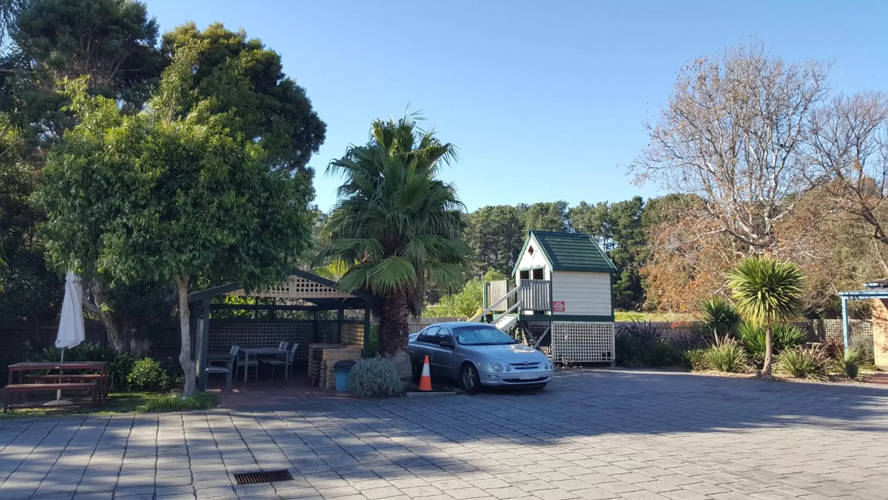
M 700 217 L 715 231 L 744 253 L 768 251 L 775 225 L 812 178 L 806 123 L 825 99 L 828 70 L 785 63 L 755 41 L 694 60 L 659 120 L 647 125 L 650 142 L 631 166 L 636 180 L 698 195 Z

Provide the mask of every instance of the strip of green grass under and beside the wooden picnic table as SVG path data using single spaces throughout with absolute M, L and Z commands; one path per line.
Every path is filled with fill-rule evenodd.
M 115 415 L 136 411 L 182 411 L 186 409 L 216 408 L 218 399 L 213 393 L 197 393 L 187 401 L 169 393 L 110 393 L 102 401 L 101 409 L 94 409 L 89 401 L 75 408 L 21 408 L 0 413 L 0 418 L 58 417 L 61 415 Z

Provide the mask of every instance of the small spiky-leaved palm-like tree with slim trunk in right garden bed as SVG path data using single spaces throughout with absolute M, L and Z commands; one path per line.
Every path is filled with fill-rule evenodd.
M 770 257 L 744 258 L 727 274 L 731 298 L 743 319 L 765 326 L 765 365 L 771 375 L 771 327 L 796 317 L 802 307 L 805 275 L 789 261 Z

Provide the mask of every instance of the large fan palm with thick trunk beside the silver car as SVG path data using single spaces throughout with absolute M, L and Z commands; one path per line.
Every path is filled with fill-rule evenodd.
M 407 350 L 408 314 L 421 312 L 425 285 L 461 282 L 469 249 L 456 187 L 436 179 L 455 147 L 417 128 L 416 115 L 376 120 L 371 134 L 329 164 L 345 182 L 321 231 L 320 257 L 354 263 L 341 286 L 376 298 L 379 352 L 393 356 Z

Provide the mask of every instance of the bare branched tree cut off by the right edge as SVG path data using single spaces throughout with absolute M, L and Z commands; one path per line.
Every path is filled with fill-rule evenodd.
M 864 223 L 888 275 L 888 96 L 862 92 L 839 96 L 809 118 L 812 181 L 849 222 Z

